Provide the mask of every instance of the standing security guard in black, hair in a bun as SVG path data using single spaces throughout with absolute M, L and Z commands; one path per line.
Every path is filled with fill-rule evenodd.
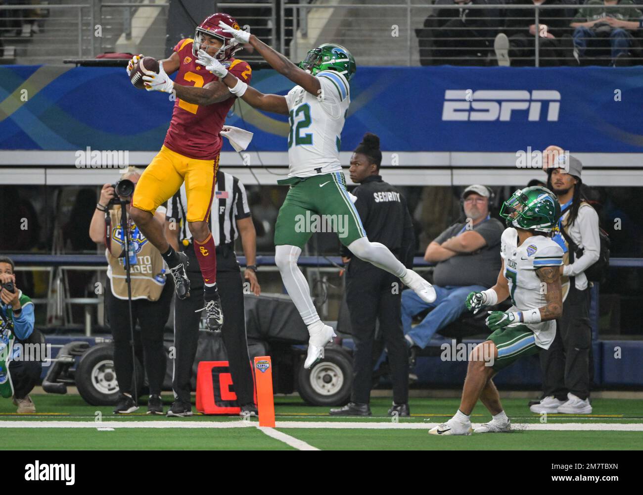
M 413 224 L 406 200 L 379 176 L 382 153 L 379 138 L 367 133 L 350 158 L 350 179 L 359 185 L 352 193 L 368 239 L 391 250 L 407 268 L 413 265 Z M 346 299 L 355 350 L 353 390 L 349 404 L 331 409 L 331 415 L 369 416 L 372 353 L 379 319 L 393 380 L 393 406 L 389 415 L 408 416 L 408 350 L 401 322 L 401 282 L 367 261 L 341 250 L 347 269 Z

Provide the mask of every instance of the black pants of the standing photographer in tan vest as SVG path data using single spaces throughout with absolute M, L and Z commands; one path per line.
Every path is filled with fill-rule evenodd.
M 132 319 L 141 329 L 140 341 L 143 348 L 143 368 L 149 382 L 150 395 L 160 395 L 167 355 L 163 347 L 165 323 L 170 316 L 170 304 L 174 294 L 172 276 L 167 277 L 163 292 L 158 301 L 148 299 L 132 300 Z M 118 388 L 123 393 L 132 394 L 132 346 L 129 332 L 129 309 L 127 299 L 118 299 L 112 294 L 109 279 L 105 290 L 105 312 L 114 338 L 114 369 Z M 134 328 L 136 333 L 136 328 Z M 138 341 L 135 337 L 135 341 Z M 141 391 L 137 391 L 140 395 Z

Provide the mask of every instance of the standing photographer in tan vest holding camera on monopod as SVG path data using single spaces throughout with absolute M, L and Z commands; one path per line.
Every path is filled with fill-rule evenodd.
M 105 311 L 114 337 L 114 369 L 120 389 L 120 398 L 114 408 L 114 414 L 129 414 L 138 409 L 138 397 L 132 395 L 136 384 L 132 376 L 133 342 L 123 250 L 125 232 L 122 229 L 120 206 L 120 201 L 128 201 L 126 210 L 130 238 L 132 326 L 138 320 L 143 348 L 143 368 L 150 389 L 147 414 L 162 415 L 161 384 L 165 377 L 167 359 L 163 348 L 163 331 L 170 314 L 174 282 L 172 277 L 165 276 L 168 267 L 161 253 L 143 236 L 129 215 L 129 201 L 140 176 L 141 173 L 136 167 L 129 167 L 123 174 L 122 180 L 103 186 L 89 226 L 89 237 L 96 244 L 104 244 L 107 247 L 105 257 L 109 266 L 105 288 Z M 165 221 L 165 208 L 159 207 L 155 215 L 159 221 Z M 140 394 L 140 390 L 136 393 Z

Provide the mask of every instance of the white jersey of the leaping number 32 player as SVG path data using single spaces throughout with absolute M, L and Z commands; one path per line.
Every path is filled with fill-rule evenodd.
M 321 94 L 311 95 L 295 86 L 285 97 L 288 104 L 288 177 L 341 171 L 341 130 L 350 105 L 348 80 L 334 70 L 321 71 Z

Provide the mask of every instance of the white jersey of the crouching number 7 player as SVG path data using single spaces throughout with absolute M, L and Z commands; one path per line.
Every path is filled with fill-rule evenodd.
M 509 281 L 509 295 L 514 303 L 509 311 L 534 310 L 545 306 L 545 291 L 536 269 L 563 265 L 563 249 L 545 236 L 532 236 L 518 246 L 518 231 L 509 227 L 500 238 L 500 256 L 505 263 L 504 275 Z M 548 349 L 556 337 L 556 321 L 528 323 L 527 326 L 534 332 L 536 345 Z

